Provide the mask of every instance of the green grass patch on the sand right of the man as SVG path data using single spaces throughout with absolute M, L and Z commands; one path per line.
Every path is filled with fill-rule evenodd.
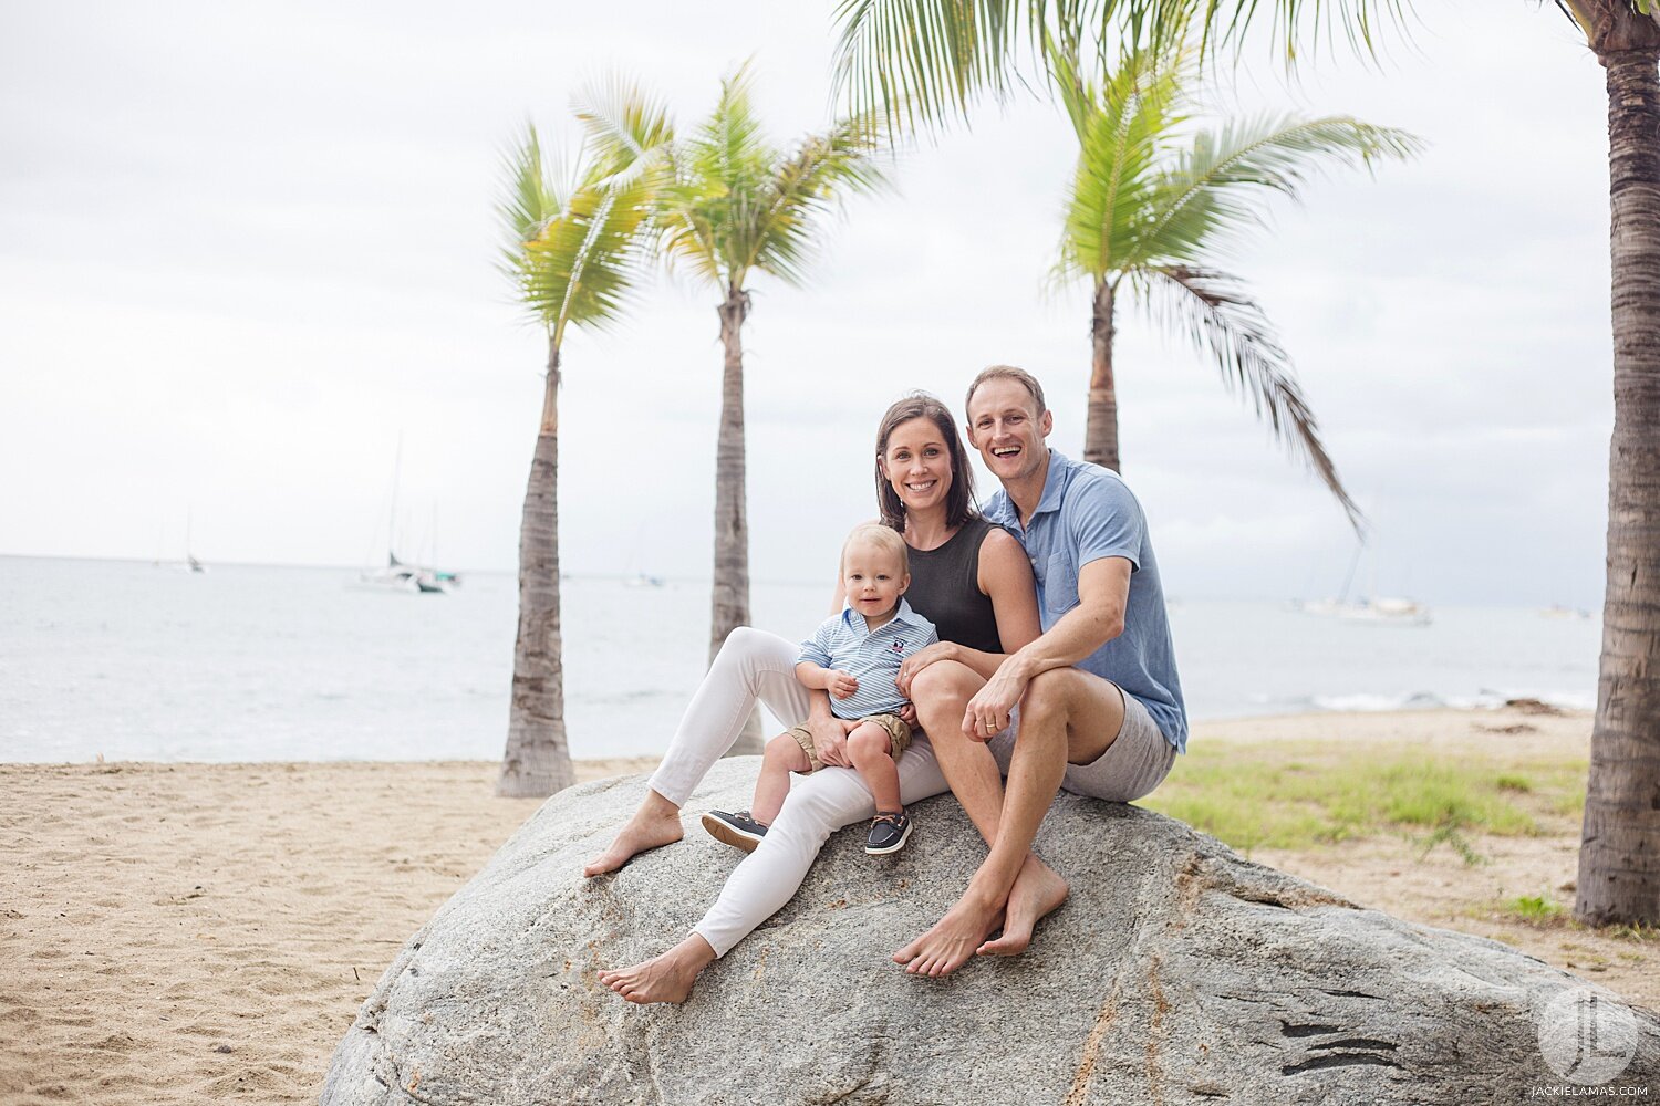
M 1235 849 L 1308 849 L 1404 834 L 1477 862 L 1471 834 L 1545 832 L 1584 808 L 1582 761 L 1497 763 L 1341 743 L 1213 743 L 1140 801 Z

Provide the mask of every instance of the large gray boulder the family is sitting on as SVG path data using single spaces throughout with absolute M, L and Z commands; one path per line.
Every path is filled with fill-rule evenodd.
M 867 857 L 860 829 L 832 837 L 687 1003 L 614 997 L 594 973 L 686 935 L 740 859 L 694 813 L 747 806 L 754 778 L 752 758 L 722 761 L 686 841 L 594 880 L 581 864 L 644 779 L 549 799 L 387 968 L 322 1101 L 1469 1106 L 1572 1081 L 1559 1071 L 1607 1079 L 1625 1055 L 1614 1081 L 1660 1093 L 1652 1011 L 1067 794 L 1038 847 L 1072 897 L 1021 958 L 946 980 L 888 960 L 984 857 L 941 796 L 896 857 Z

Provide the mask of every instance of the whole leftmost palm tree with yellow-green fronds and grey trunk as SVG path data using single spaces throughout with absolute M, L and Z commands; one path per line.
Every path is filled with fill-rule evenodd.
M 548 335 L 548 375 L 520 524 L 520 622 L 501 796 L 548 796 L 576 781 L 559 640 L 559 347 L 566 327 L 604 327 L 618 317 L 647 247 L 659 151 L 671 139 L 661 108 L 631 90 L 613 91 L 578 111 L 589 141 L 568 177 L 543 158 L 530 126 L 505 164 L 501 270 Z

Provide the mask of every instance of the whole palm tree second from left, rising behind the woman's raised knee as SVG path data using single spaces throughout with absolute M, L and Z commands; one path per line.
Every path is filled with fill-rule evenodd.
M 755 272 L 800 285 L 825 216 L 852 192 L 878 187 L 878 134 L 868 116 L 808 134 L 793 151 L 772 146 L 750 103 L 744 65 L 720 83 L 714 114 L 674 149 L 674 184 L 657 209 L 661 249 L 720 293 L 720 433 L 715 444 L 714 599 L 709 658 L 749 623 L 749 522 L 744 502 L 744 320 Z M 759 753 L 752 725 L 734 753 Z

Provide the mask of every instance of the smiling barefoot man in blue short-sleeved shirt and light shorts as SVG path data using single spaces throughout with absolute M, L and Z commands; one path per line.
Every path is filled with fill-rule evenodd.
M 951 791 L 991 846 L 956 905 L 893 953 L 911 973 L 948 975 L 976 952 L 1024 950 L 1033 924 L 1067 894 L 1031 852 L 1056 791 L 1129 803 L 1187 748 L 1140 504 L 1117 473 L 1049 449 L 1052 424 L 1042 386 L 1023 370 L 988 368 L 968 390 L 968 443 L 1003 483 L 986 516 L 1031 559 L 1042 635 L 1003 662 L 961 718 L 943 716 L 963 701 L 953 686 L 961 672 L 931 667 L 911 682 Z

